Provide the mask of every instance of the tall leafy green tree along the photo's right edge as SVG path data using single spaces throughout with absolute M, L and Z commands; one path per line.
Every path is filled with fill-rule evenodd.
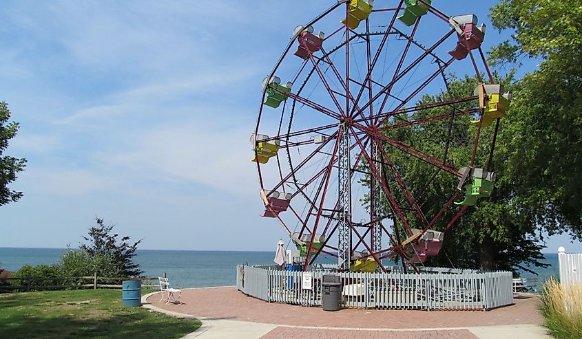
M 582 239 L 582 6 L 579 0 L 503 0 L 499 30 L 514 34 L 490 54 L 497 65 L 540 61 L 517 84 L 508 121 L 516 200 L 549 234 Z M 506 129 L 506 127 L 504 127 Z

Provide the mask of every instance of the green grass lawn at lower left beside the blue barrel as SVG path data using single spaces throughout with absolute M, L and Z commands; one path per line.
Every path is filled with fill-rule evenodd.
M 180 338 L 198 327 L 123 307 L 121 289 L 0 294 L 0 338 Z

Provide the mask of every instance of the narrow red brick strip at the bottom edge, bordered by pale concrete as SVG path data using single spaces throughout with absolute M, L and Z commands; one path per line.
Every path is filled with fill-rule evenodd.
M 277 327 L 262 339 L 477 339 L 466 329 L 441 331 L 349 331 L 339 329 L 298 329 Z

